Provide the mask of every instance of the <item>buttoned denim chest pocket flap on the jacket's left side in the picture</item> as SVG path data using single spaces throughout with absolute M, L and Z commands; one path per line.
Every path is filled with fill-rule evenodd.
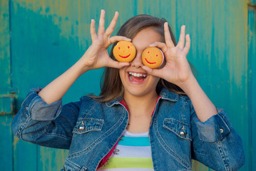
M 104 121 L 95 118 L 78 118 L 76 126 L 73 128 L 73 133 L 83 134 L 92 130 L 100 131 Z

